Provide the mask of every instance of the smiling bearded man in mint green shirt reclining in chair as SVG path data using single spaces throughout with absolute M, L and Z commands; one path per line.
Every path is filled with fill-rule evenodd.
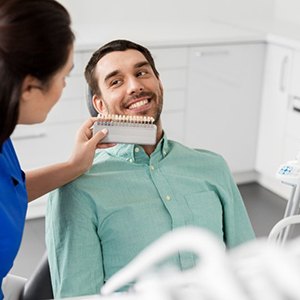
M 52 193 L 46 235 L 56 297 L 98 293 L 177 227 L 207 228 L 228 248 L 254 238 L 222 157 L 170 141 L 163 132 L 163 87 L 146 48 L 112 41 L 94 53 L 85 76 L 99 113 L 153 117 L 157 143 L 103 150 L 86 174 Z M 195 264 L 189 253 L 169 262 L 182 269 Z

